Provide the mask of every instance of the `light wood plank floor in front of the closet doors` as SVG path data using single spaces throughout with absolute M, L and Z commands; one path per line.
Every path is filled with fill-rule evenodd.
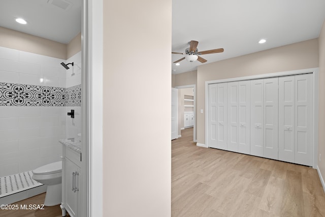
M 172 141 L 172 216 L 325 216 L 315 169 Z

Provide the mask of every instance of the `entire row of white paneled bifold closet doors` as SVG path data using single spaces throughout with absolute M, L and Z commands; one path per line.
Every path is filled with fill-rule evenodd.
M 209 84 L 208 146 L 312 166 L 313 75 Z

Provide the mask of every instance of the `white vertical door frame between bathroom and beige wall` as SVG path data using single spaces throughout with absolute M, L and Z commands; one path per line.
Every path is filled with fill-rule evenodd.
M 103 0 L 82 0 L 81 217 L 103 216 Z

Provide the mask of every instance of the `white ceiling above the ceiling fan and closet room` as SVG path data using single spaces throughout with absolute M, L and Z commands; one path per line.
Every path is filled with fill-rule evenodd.
M 318 38 L 325 18 L 324 0 L 173 0 L 172 51 L 184 52 L 199 42 L 208 63 Z M 258 44 L 266 39 L 265 44 Z M 183 55 L 172 54 L 172 60 Z M 199 61 L 172 64 L 172 73 L 197 70 Z M 176 70 L 176 71 L 174 71 Z

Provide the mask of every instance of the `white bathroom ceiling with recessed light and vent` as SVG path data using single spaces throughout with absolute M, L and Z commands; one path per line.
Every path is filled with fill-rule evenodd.
M 71 4 L 67 10 L 51 4 L 64 2 Z M 0 26 L 68 44 L 81 32 L 81 6 L 82 0 L 1 0 Z

